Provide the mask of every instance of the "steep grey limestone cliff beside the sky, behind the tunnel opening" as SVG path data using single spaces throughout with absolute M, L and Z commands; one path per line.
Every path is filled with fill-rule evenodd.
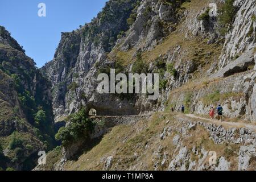
M 119 32 L 128 29 L 126 20 L 137 3 L 139 1 L 109 1 L 92 23 L 78 31 L 63 34 L 55 58 L 44 67 L 53 83 L 56 118 L 77 111 L 81 105 L 92 105 L 99 111 L 118 114 L 115 109 L 119 106 L 113 107 L 116 103 L 114 98 L 94 96 L 97 94 L 97 68 L 94 64 L 108 62 L 106 52 L 114 47 Z M 71 89 L 69 85 L 75 87 Z M 127 101 L 120 105 L 130 109 L 130 114 L 135 112 Z M 119 112 L 125 114 L 125 111 Z

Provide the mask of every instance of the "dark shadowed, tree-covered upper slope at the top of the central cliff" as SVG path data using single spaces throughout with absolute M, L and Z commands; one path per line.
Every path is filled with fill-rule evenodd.
M 91 23 L 82 28 L 82 35 L 96 46 L 101 44 L 106 52 L 110 52 L 115 46 L 119 32 L 128 30 L 129 24 L 136 16 L 135 11 L 140 2 L 139 0 L 106 2 L 97 18 L 93 18 Z

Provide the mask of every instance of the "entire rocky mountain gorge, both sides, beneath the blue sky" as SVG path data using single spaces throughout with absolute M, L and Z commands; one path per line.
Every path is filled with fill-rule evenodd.
M 35 170 L 255 170 L 255 27 L 255 0 L 110 0 L 41 69 L 1 27 L 0 166 L 27 169 L 67 122 Z M 98 93 L 111 68 L 159 73 L 158 100 Z M 202 119 L 218 104 L 224 123 Z

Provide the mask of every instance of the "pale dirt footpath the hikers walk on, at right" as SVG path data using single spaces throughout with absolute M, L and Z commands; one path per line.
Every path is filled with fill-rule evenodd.
M 251 124 L 246 124 L 246 123 L 241 123 L 241 122 L 225 122 L 225 121 L 221 122 L 221 121 L 217 121 L 217 120 L 212 121 L 212 119 L 198 117 L 194 114 L 185 114 L 185 116 L 187 116 L 189 118 L 202 119 L 204 121 L 209 121 L 210 123 L 214 123 L 214 124 L 217 124 L 217 125 L 222 125 L 222 126 L 227 126 L 227 127 L 237 127 L 237 128 L 246 127 L 250 130 L 256 131 L 256 126 L 251 125 Z

